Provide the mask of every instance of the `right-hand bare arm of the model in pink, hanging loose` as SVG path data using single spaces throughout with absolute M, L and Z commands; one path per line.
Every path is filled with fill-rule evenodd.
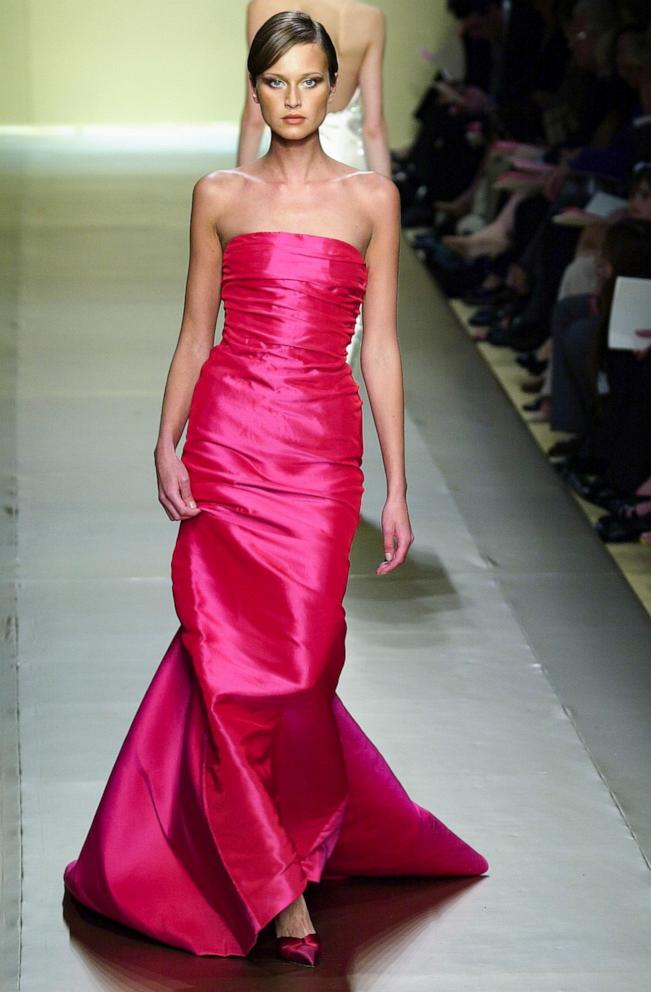
M 384 575 L 404 562 L 414 535 L 407 510 L 404 391 L 397 330 L 400 198 L 388 179 L 375 176 L 373 186 L 374 224 L 366 252 L 369 277 L 360 358 L 387 479 L 382 511 L 386 561 L 376 569 L 376 574 Z

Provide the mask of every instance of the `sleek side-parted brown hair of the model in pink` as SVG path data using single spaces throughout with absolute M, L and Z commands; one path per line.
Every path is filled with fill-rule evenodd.
M 251 82 L 277 62 L 294 45 L 318 45 L 328 60 L 328 75 L 332 85 L 339 71 L 337 52 L 323 24 L 300 10 L 282 10 L 265 21 L 256 32 L 246 67 Z

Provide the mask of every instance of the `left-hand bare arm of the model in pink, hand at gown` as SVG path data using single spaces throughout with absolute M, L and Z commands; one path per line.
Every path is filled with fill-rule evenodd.
M 200 512 L 192 499 L 188 473 L 176 447 L 190 412 L 192 393 L 215 341 L 221 299 L 222 250 L 215 217 L 219 190 L 205 176 L 194 188 L 190 222 L 190 262 L 181 331 L 167 376 L 156 450 L 158 497 L 170 520 Z

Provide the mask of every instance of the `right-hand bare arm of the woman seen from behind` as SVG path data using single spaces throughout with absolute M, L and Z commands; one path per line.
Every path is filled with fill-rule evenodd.
M 359 70 L 362 91 L 364 149 L 369 168 L 383 176 L 391 175 L 389 133 L 384 119 L 382 63 L 384 60 L 385 20 L 381 10 L 372 16 L 371 39 Z

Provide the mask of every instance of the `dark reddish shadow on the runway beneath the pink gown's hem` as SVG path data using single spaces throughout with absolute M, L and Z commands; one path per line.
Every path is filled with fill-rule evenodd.
M 292 992 L 313 987 L 350 992 L 349 978 L 377 970 L 397 942 L 422 930 L 480 879 L 346 879 L 310 887 L 308 900 L 323 938 L 321 965 L 312 971 L 273 956 L 267 928 L 247 958 L 196 957 L 156 943 L 87 910 L 68 893 L 63 918 L 73 953 L 97 987 L 121 992 Z

